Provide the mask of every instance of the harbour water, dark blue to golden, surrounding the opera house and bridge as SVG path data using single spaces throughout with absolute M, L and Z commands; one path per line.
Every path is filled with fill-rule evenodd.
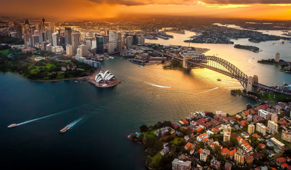
M 170 33 L 173 39 L 146 42 L 188 46 L 183 40 L 194 33 L 185 33 Z M 217 54 L 245 74 L 258 75 L 260 83 L 291 83 L 291 74 L 280 72 L 278 66 L 256 62 L 274 58 L 276 52 L 281 59 L 290 61 L 290 43 L 234 41 L 258 46 L 263 51 L 253 53 L 235 49 L 231 44 L 190 46 L 211 49 L 206 55 Z M 238 81 L 211 70 L 164 70 L 162 65 L 138 67 L 119 58 L 102 61 L 102 65 L 122 83 L 113 88 L 97 88 L 86 81 L 33 82 L 16 74 L 0 74 L 1 168 L 57 165 L 65 169 L 91 169 L 102 165 L 108 169 L 143 170 L 142 145 L 127 139 L 142 124 L 176 121 L 198 110 L 235 114 L 244 110 L 247 103 L 256 104 L 251 98 L 230 94 L 231 89 L 241 88 Z M 51 114 L 54 115 L 45 117 Z M 37 119 L 40 117 L 45 118 Z M 74 128 L 59 133 L 79 117 L 85 118 Z M 34 119 L 37 120 L 7 128 Z

